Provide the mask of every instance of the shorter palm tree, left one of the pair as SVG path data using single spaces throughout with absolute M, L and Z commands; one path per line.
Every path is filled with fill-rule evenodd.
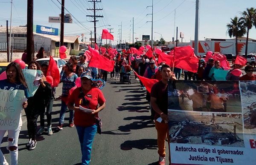
M 237 39 L 239 37 L 243 37 L 243 35 L 246 33 L 246 29 L 244 26 L 242 26 L 242 20 L 238 19 L 238 17 L 234 17 L 233 19 L 230 18 L 230 23 L 227 24 L 227 34 L 229 37 L 236 37 L 236 55 L 238 54 L 238 48 L 237 48 Z

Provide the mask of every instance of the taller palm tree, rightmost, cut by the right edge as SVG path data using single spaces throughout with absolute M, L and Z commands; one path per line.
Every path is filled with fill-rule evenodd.
M 248 38 L 249 38 L 249 30 L 255 26 L 256 27 L 256 9 L 253 7 L 246 8 L 242 13 L 242 17 L 240 18 L 243 21 L 243 26 L 247 28 L 247 36 L 246 36 L 246 44 L 245 44 L 245 57 L 247 57 L 247 48 L 248 48 Z

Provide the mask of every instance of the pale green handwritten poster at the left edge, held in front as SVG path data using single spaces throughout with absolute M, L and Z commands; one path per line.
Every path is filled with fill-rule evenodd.
M 23 90 L 0 89 L 0 130 L 15 130 L 20 121 L 25 94 Z

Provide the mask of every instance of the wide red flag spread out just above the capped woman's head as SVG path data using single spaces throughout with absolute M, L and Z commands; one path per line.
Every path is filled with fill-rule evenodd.
M 105 71 L 113 71 L 115 61 L 109 60 L 106 57 L 103 57 L 99 54 L 93 54 L 90 59 L 89 66 L 94 68 L 100 68 Z

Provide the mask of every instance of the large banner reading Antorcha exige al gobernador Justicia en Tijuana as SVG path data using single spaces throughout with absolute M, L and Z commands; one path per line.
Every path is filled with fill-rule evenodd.
M 254 165 L 256 81 L 176 81 L 168 86 L 172 165 Z

